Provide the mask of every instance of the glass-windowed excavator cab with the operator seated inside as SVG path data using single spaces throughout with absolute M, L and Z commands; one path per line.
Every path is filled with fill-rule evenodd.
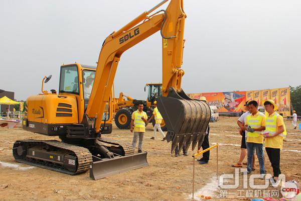
M 79 123 L 82 121 L 88 107 L 95 73 L 96 66 L 81 65 L 79 63 L 61 66 L 59 94 L 72 95 L 76 98 Z M 109 101 L 102 116 L 102 124 L 106 121 L 103 134 L 111 133 L 112 131 L 111 110 L 111 101 Z

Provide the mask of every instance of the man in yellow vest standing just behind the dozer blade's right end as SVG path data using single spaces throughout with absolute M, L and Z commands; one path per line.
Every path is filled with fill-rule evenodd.
M 145 123 L 147 123 L 147 115 L 143 111 L 143 104 L 138 104 L 138 110 L 133 112 L 131 122 L 130 122 L 130 132 L 133 132 L 134 127 L 134 136 L 132 146 L 136 147 L 137 138 L 139 137 L 138 143 L 138 153 L 142 153 L 142 141 L 145 133 Z

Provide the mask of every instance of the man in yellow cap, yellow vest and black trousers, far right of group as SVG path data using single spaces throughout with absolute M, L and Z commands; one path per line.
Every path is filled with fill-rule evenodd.
M 277 105 L 273 100 L 263 100 L 265 111 L 268 116 L 265 119 L 265 131 L 263 137 L 265 138 L 265 150 L 268 159 L 273 168 L 273 179 L 277 180 L 280 171 L 280 149 L 283 147 L 283 138 L 286 137 L 286 129 L 283 123 L 283 118 L 275 111 Z

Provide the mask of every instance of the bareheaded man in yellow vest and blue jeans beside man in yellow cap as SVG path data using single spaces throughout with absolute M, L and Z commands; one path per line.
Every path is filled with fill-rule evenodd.
M 247 137 L 247 152 L 248 152 L 248 166 L 247 173 L 251 173 L 252 160 L 254 150 L 256 149 L 257 158 L 259 160 L 261 178 L 264 179 L 265 168 L 263 159 L 263 135 L 262 131 L 265 130 L 265 116 L 258 111 L 258 103 L 255 100 L 248 102 L 249 112 L 251 113 L 246 117 L 245 128 L 248 131 Z

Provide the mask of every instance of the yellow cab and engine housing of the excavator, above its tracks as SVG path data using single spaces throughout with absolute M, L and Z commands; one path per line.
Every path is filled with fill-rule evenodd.
M 42 93 L 27 98 L 28 113 L 23 121 L 25 130 L 65 138 L 68 127 L 83 121 L 96 67 L 74 63 L 62 65 L 60 71 L 58 94 L 54 89 L 51 92 L 44 90 L 44 84 L 51 78 L 48 76 L 42 81 Z M 87 77 L 92 78 L 90 85 Z M 107 102 L 102 115 L 106 119 L 101 122 L 103 133 L 112 132 L 111 108 L 110 102 Z

